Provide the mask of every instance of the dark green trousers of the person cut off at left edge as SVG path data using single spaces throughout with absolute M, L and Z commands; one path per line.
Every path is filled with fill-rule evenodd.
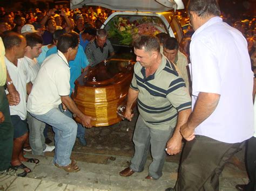
M 10 166 L 12 147 L 14 145 L 14 127 L 11 123 L 9 102 L 4 87 L 0 86 L 0 111 L 4 114 L 4 122 L 0 123 L 0 171 Z

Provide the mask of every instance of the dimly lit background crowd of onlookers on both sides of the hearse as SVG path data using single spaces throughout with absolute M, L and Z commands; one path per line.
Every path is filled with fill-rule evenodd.
M 93 26 L 96 29 L 100 29 L 106 18 L 112 13 L 111 10 L 105 9 L 99 6 L 93 6 L 83 9 L 70 10 L 65 8 L 64 11 L 68 16 L 71 24 L 71 30 L 76 29 L 77 25 L 82 24 L 80 30 L 75 30 L 76 32 L 82 32 L 86 27 Z M 0 34 L 6 30 L 12 30 L 21 33 L 21 28 L 25 24 L 32 24 L 35 26 L 35 30 L 41 31 L 42 33 L 47 30 L 46 23 L 42 23 L 44 16 L 50 12 L 50 17 L 54 18 L 56 22 L 56 29 L 64 29 L 68 23 L 61 15 L 59 10 L 39 10 L 35 11 L 10 11 L 6 12 L 4 8 L 0 8 Z M 180 48 L 189 58 L 189 43 L 190 38 L 193 34 L 192 27 L 190 26 L 190 20 L 185 11 L 177 11 L 176 17 L 180 22 L 181 27 L 184 31 L 184 40 L 181 42 Z M 238 29 L 247 39 L 248 51 L 252 59 L 252 66 L 256 65 L 255 60 L 255 17 L 253 16 L 232 16 L 230 13 L 221 13 L 221 17 L 224 22 Z M 49 18 L 48 18 L 49 19 Z M 45 43 L 44 43 L 45 44 Z

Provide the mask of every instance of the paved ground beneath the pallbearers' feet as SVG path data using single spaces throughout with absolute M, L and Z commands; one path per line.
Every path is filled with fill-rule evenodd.
M 38 165 L 26 163 L 32 169 L 26 178 L 1 175 L 0 190 L 165 190 L 174 186 L 180 155 L 167 156 L 163 176 L 159 180 L 146 180 L 147 166 L 142 173 L 122 177 L 119 172 L 129 166 L 133 155 L 132 133 L 136 119 L 123 121 L 105 128 L 87 129 L 87 146 L 80 146 L 78 140 L 73 148 L 72 157 L 78 161 L 80 171 L 66 173 L 52 165 L 53 152 L 45 157 L 26 153 L 26 157 L 38 158 Z M 128 131 L 127 131 L 128 128 Z M 53 140 L 53 133 L 49 130 Z M 53 143 L 51 143 L 53 144 Z M 237 183 L 246 183 L 244 149 L 225 166 L 220 177 L 220 190 L 236 190 Z

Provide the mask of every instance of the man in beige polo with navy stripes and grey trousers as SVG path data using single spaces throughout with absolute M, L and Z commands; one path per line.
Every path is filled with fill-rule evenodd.
M 169 154 L 181 151 L 180 126 L 191 114 L 191 97 L 184 80 L 160 53 L 156 37 L 143 35 L 134 40 L 137 63 L 130 85 L 125 117 L 131 121 L 132 104 L 138 99 L 139 117 L 133 134 L 134 156 L 130 167 L 120 172 L 130 176 L 142 172 L 150 150 L 153 161 L 146 179 L 163 174 L 165 148 Z

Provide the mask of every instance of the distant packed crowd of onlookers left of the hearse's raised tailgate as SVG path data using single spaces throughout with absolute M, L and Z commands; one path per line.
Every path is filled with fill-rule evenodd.
M 104 23 L 107 16 L 109 15 L 109 10 L 104 8 L 92 9 L 75 9 L 70 10 L 69 8 L 63 9 L 68 16 L 70 23 L 73 28 L 75 28 L 76 21 L 78 18 L 83 18 L 83 24 L 90 23 L 96 29 Z M 25 24 L 32 24 L 35 26 L 36 30 L 41 30 L 42 32 L 46 29 L 46 25 L 42 25 L 43 18 L 50 13 L 49 17 L 55 19 L 57 29 L 64 29 L 67 26 L 67 22 L 61 15 L 60 10 L 50 9 L 50 10 L 39 10 L 35 11 L 10 11 L 6 12 L 4 8 L 0 8 L 0 34 L 7 30 L 12 30 L 14 32 L 21 33 L 21 28 Z

